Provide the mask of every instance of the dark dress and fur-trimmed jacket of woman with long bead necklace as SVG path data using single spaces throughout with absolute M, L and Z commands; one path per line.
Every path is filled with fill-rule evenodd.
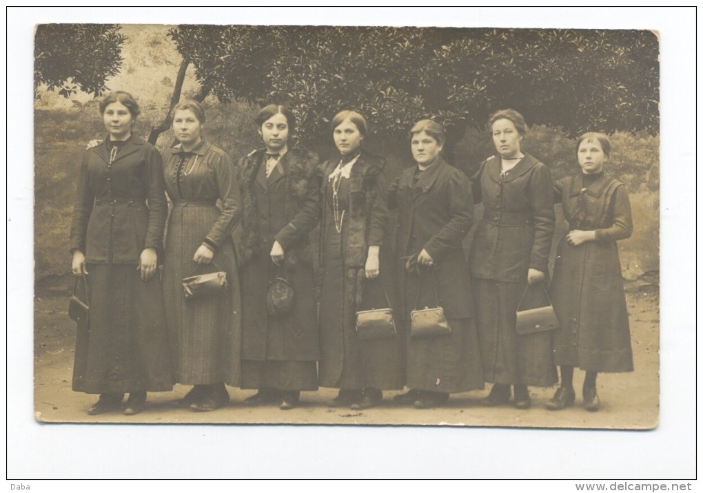
M 388 222 L 385 161 L 366 151 L 357 158 L 349 179 L 340 182 L 342 231 L 333 218 L 329 176 L 339 159 L 321 166 L 323 213 L 320 228 L 320 385 L 344 389 L 402 388 L 402 336 L 373 341 L 356 337 L 356 311 L 386 308 L 392 295 L 390 260 L 383 245 Z M 380 278 L 366 280 L 368 247 L 378 245 Z M 392 302 L 391 302 L 392 303 Z

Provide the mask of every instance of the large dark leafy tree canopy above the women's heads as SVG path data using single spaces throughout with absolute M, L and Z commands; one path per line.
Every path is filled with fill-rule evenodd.
M 450 141 L 503 107 L 569 136 L 659 129 L 652 32 L 182 25 L 169 36 L 219 100 L 290 103 L 306 143 L 328 138 L 345 108 L 384 136 L 431 117 Z

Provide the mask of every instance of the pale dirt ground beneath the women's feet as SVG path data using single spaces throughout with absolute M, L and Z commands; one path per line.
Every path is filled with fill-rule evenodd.
M 95 395 L 71 390 L 75 345 L 75 323 L 67 317 L 65 280 L 38 287 L 34 298 L 34 416 L 44 423 L 298 423 L 298 424 L 389 424 L 451 426 L 525 426 L 535 428 L 655 428 L 659 419 L 659 295 L 652 287 L 633 288 L 627 293 L 635 372 L 600 374 L 599 412 L 581 407 L 580 388 L 583 372 L 576 372 L 576 405 L 550 412 L 544 404 L 555 388 L 530 388 L 532 408 L 512 406 L 486 408 L 479 400 L 486 390 L 454 394 L 449 403 L 437 409 L 413 409 L 396 405 L 385 393 L 382 405 L 365 411 L 332 409 L 325 401 L 336 390 L 321 388 L 304 392 L 301 406 L 281 411 L 276 406 L 247 407 L 243 400 L 253 392 L 228 388 L 231 402 L 214 412 L 177 409 L 172 401 L 183 397 L 187 386 L 172 392 L 150 393 L 148 407 L 136 416 L 120 412 L 88 416 L 86 409 Z

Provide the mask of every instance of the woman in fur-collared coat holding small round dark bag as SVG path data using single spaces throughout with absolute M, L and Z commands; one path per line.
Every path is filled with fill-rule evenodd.
M 242 388 L 258 392 L 247 405 L 277 403 L 292 409 L 301 390 L 317 390 L 320 352 L 309 232 L 320 218 L 318 157 L 288 147 L 295 118 L 268 105 L 256 117 L 264 148 L 237 166 L 243 201 Z M 288 313 L 271 315 L 271 280 L 285 277 L 295 296 Z

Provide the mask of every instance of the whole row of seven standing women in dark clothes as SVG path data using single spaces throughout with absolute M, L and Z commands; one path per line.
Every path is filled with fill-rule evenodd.
M 174 383 L 193 386 L 177 405 L 199 411 L 225 405 L 226 385 L 257 390 L 247 405 L 280 409 L 318 386 L 339 390 L 328 405 L 352 409 L 407 387 L 394 400 L 424 409 L 484 381 L 494 383 L 484 404 L 508 403 L 512 386 L 515 407 L 527 408 L 528 386 L 553 385 L 555 364 L 562 382 L 548 408 L 574 403 L 581 367 L 594 410 L 597 372 L 632 369 L 615 244 L 631 219 L 624 187 L 602 173 L 610 143 L 601 134 L 579 140 L 582 172 L 553 185 L 520 149 L 522 116 L 501 110 L 489 121 L 498 156 L 470 179 L 441 158 L 442 127 L 422 120 L 410 131 L 415 166 L 390 180 L 384 159 L 363 149 L 367 124 L 354 111 L 335 116 L 340 154 L 319 163 L 289 147 L 290 109 L 266 106 L 256 118 L 264 147 L 234 165 L 202 137 L 195 101 L 174 108 L 179 143 L 164 162 L 132 135 L 138 105 L 128 93 L 100 109 L 108 138 L 84 156 L 71 228 L 73 272 L 89 276 L 91 307 L 73 388 L 100 394 L 89 414 L 136 414 L 147 391 Z M 561 328 L 517 334 L 519 306 L 549 303 L 537 286 L 548 282 L 555 197 L 571 226 L 552 282 Z M 462 242 L 475 223 L 467 262 Z M 309 233 L 318 225 L 314 272 Z M 184 277 L 214 270 L 226 273 L 222 296 L 184 298 Z M 290 287 L 284 310 L 271 307 L 272 282 Z M 443 308 L 444 333 L 411 335 L 411 313 L 430 306 Z M 360 338 L 356 313 L 383 307 L 393 309 L 395 333 Z

